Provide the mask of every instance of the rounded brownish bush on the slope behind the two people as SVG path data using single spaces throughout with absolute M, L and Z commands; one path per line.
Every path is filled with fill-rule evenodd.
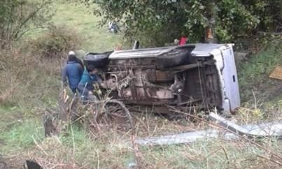
M 76 50 L 82 40 L 75 31 L 66 27 L 51 26 L 45 34 L 31 40 L 32 54 L 41 58 L 61 58 L 69 50 Z

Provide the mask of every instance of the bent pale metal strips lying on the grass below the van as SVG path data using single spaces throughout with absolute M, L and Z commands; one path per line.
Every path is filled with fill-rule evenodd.
M 138 145 L 174 145 L 187 144 L 204 138 L 238 140 L 241 136 L 246 136 L 247 138 L 274 137 L 282 139 L 282 123 L 279 122 L 239 126 L 213 112 L 210 113 L 209 117 L 216 121 L 216 126 L 221 126 L 221 128 L 165 135 L 154 138 L 143 138 L 135 140 L 135 143 Z

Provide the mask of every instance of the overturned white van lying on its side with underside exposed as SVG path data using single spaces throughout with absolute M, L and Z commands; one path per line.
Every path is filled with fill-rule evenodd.
M 160 113 L 171 107 L 230 112 L 240 105 L 231 44 L 121 50 L 106 59 L 101 65 L 105 88 L 124 103 L 148 105 Z

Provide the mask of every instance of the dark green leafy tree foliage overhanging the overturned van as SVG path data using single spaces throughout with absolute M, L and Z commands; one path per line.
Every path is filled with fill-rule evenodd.
M 276 7 L 272 7 L 281 11 L 281 3 L 278 4 L 281 0 L 81 1 L 98 6 L 94 14 L 104 17 L 101 24 L 119 20 L 126 28 L 126 37 L 146 36 L 150 45 L 164 45 L 181 34 L 188 35 L 190 42 L 202 41 L 204 32 L 209 27 L 213 29 L 213 35 L 218 41 L 231 42 L 239 35 L 249 34 L 258 26 L 268 29 L 264 25 L 269 25 L 269 21 L 276 15 L 269 8 L 273 3 Z M 265 13 L 266 11 L 268 12 Z

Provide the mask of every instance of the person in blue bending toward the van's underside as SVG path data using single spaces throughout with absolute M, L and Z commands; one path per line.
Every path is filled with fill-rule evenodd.
M 83 76 L 78 84 L 78 91 L 80 95 L 85 99 L 90 99 L 90 94 L 92 94 L 94 83 L 101 83 L 101 79 L 97 75 L 98 69 L 93 65 L 87 66 L 83 71 Z

